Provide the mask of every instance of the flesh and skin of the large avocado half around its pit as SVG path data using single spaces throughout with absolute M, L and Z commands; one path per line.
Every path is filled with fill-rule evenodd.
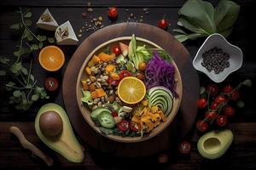
M 62 119 L 63 129 L 60 134 L 54 137 L 45 136 L 39 127 L 39 118 L 47 111 L 57 112 Z M 35 120 L 36 133 L 39 139 L 44 144 L 48 145 L 50 149 L 55 150 L 61 156 L 64 156 L 68 161 L 81 162 L 84 159 L 84 152 L 82 150 L 79 141 L 76 139 L 71 124 L 69 122 L 66 111 L 60 106 L 54 103 L 43 105 L 38 111 L 38 115 Z

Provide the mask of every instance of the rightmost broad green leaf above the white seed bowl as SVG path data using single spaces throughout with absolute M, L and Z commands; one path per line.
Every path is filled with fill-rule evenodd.
M 232 1 L 220 1 L 214 12 L 214 22 L 217 26 L 217 31 L 221 32 L 232 27 L 238 14 L 240 6 Z

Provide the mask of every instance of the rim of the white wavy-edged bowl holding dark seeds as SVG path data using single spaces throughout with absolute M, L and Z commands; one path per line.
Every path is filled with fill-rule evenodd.
M 214 79 L 213 77 L 210 76 L 209 72 L 204 71 L 204 70 L 201 70 L 200 68 L 198 68 L 197 66 L 195 66 L 195 59 L 197 59 L 197 58 L 200 57 L 200 56 L 199 56 L 199 53 L 201 52 L 201 49 L 205 46 L 205 44 L 207 43 L 207 41 L 209 41 L 209 39 L 212 38 L 212 37 L 219 37 L 219 38 L 222 38 L 222 39 L 224 40 L 224 42 L 226 42 L 230 47 L 236 48 L 236 49 L 241 53 L 241 55 L 240 55 L 240 56 L 241 56 L 241 63 L 239 63 L 239 66 L 238 66 L 236 69 L 234 69 L 234 70 L 228 72 L 228 73 L 225 74 L 222 78 L 219 78 L 219 79 Z M 213 82 L 223 82 L 223 81 L 226 79 L 226 77 L 228 77 L 232 72 L 235 72 L 235 71 L 237 71 L 238 69 L 241 68 L 242 62 L 243 62 L 243 53 L 242 53 L 242 51 L 241 51 L 241 48 L 239 48 L 239 47 L 237 47 L 236 45 L 233 45 L 233 44 L 231 44 L 230 42 L 228 42 L 228 41 L 226 40 L 226 38 L 225 38 L 224 36 L 222 36 L 221 34 L 219 34 L 219 33 L 213 33 L 213 34 L 211 34 L 210 36 L 207 37 L 207 39 L 202 43 L 201 47 L 200 47 L 200 48 L 198 49 L 198 51 L 196 52 L 195 58 L 193 59 L 193 66 L 194 66 L 195 70 L 201 71 L 201 72 L 205 73 L 205 74 L 207 75 L 207 77 L 209 77 Z

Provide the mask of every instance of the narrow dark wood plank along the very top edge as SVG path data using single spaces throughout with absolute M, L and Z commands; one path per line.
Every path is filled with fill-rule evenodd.
M 218 4 L 218 0 L 208 0 L 214 5 Z M 126 1 L 126 0 L 61 0 L 61 1 L 51 1 L 51 0 L 9 0 L 1 1 L 1 6 L 26 6 L 26 7 L 87 7 L 88 2 L 90 2 L 93 7 L 125 7 L 125 8 L 137 8 L 137 7 L 168 7 L 168 8 L 177 8 L 181 7 L 186 0 L 140 0 L 140 1 Z M 242 6 L 251 6 L 254 4 L 253 0 L 234 0 L 234 2 Z

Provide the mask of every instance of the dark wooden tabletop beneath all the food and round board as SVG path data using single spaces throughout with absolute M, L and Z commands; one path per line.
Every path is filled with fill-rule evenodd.
M 93 8 L 93 15 L 104 18 L 104 26 L 112 25 L 114 23 L 120 23 L 127 20 L 127 17 L 132 13 L 137 17 L 144 15 L 143 23 L 148 23 L 153 26 L 157 26 L 157 21 L 164 15 L 166 19 L 170 21 L 168 31 L 172 32 L 172 28 L 177 28 L 177 10 L 180 8 L 185 0 L 141 0 L 141 1 L 125 1 L 125 0 L 95 0 L 91 2 Z M 213 4 L 217 4 L 217 0 L 211 0 Z M 241 5 L 241 13 L 236 22 L 236 26 L 229 41 L 238 47 L 240 47 L 244 54 L 244 62 L 241 69 L 232 73 L 224 82 L 218 84 L 219 87 L 224 84 L 230 83 L 236 85 L 238 82 L 247 78 L 256 83 L 256 58 L 254 56 L 254 27 L 253 21 L 255 12 L 253 0 L 236 0 L 236 3 Z M 15 10 L 19 6 L 22 8 L 32 9 L 32 20 L 35 23 L 45 8 L 49 8 L 55 17 L 55 20 L 59 24 L 66 20 L 70 20 L 73 25 L 74 31 L 77 33 L 79 29 L 84 26 L 84 22 L 88 19 L 84 19 L 81 14 L 87 11 L 88 3 L 82 0 L 68 1 L 52 1 L 52 0 L 38 0 L 38 1 L 19 1 L 8 0 L 1 1 L 0 3 L 0 54 L 5 56 L 13 56 L 15 45 L 18 40 L 15 39 L 14 32 L 9 29 L 15 21 L 20 20 L 19 14 L 15 14 Z M 107 10 L 110 6 L 116 6 L 119 8 L 118 20 L 109 23 L 107 17 Z M 127 11 L 129 8 L 129 12 Z M 143 8 L 149 8 L 149 13 L 144 14 Z M 32 26 L 33 31 L 38 31 L 36 26 Z M 84 32 L 83 37 L 79 37 L 80 40 L 88 37 L 92 32 Z M 80 41 L 82 42 L 82 41 Z M 186 42 L 184 45 L 188 48 L 191 57 L 194 58 L 197 49 L 201 46 L 203 39 Z M 61 81 L 68 60 L 71 58 L 76 46 L 62 46 L 64 53 L 66 54 L 66 63 L 61 71 L 54 75 Z M 39 83 L 43 84 L 45 77 L 49 76 L 40 65 L 38 65 L 38 53 L 33 54 L 35 59 L 33 63 L 32 73 L 38 78 Z M 11 57 L 10 57 L 11 58 Z M 28 63 L 27 63 L 28 65 Z M 206 85 L 211 81 L 205 75 L 199 73 L 201 85 Z M 196 140 L 198 134 L 195 131 L 195 127 L 191 129 L 186 139 L 192 141 L 192 151 L 189 156 L 179 156 L 173 150 L 163 150 L 163 153 L 169 153 L 170 161 L 165 166 L 157 163 L 157 155 L 148 157 L 115 157 L 109 154 L 98 152 L 90 148 L 87 144 L 84 144 L 86 157 L 80 164 L 74 164 L 67 162 L 61 156 L 55 154 L 52 150 L 49 150 L 42 142 L 39 141 L 34 130 L 34 118 L 38 111 L 38 108 L 42 104 L 37 104 L 32 107 L 31 111 L 21 113 L 13 109 L 8 105 L 8 93 L 4 88 L 4 83 L 9 81 L 9 77 L 0 77 L 0 169 L 45 169 L 48 168 L 44 165 L 44 162 L 38 158 L 31 156 L 28 150 L 21 148 L 17 139 L 9 133 L 9 127 L 16 125 L 26 134 L 27 139 L 31 140 L 33 144 L 36 144 L 40 149 L 44 150 L 50 156 L 55 159 L 55 165 L 53 168 L 59 169 L 119 169 L 119 168 L 150 168 L 157 166 L 158 168 L 173 168 L 173 169 L 213 169 L 213 168 L 230 168 L 230 169 L 255 169 L 256 168 L 256 105 L 255 105 L 255 89 L 244 89 L 241 91 L 241 99 L 245 102 L 245 108 L 238 110 L 236 117 L 232 119 L 228 125 L 235 134 L 234 144 L 230 147 L 230 150 L 219 158 L 218 160 L 208 161 L 203 159 L 196 150 Z M 63 105 L 61 90 L 59 93 L 52 95 L 50 101 Z M 64 105 L 63 105 L 64 106 Z

